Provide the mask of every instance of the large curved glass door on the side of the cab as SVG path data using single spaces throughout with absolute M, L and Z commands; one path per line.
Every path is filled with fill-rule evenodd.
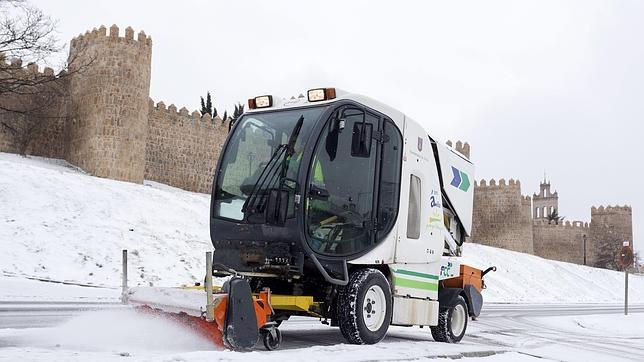
M 348 256 L 374 243 L 379 122 L 361 107 L 342 106 L 322 130 L 305 197 L 307 241 L 319 255 Z

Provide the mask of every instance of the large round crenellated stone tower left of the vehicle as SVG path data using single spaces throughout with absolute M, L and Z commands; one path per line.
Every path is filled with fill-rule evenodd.
M 89 173 L 143 182 L 152 39 L 101 26 L 72 39 L 67 159 Z

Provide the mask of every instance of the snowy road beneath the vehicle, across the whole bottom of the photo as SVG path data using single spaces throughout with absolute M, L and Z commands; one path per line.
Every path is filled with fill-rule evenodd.
M 56 325 L 65 325 L 65 321 L 78 315 L 90 316 L 92 310 L 126 312 L 127 307 L 118 303 L 74 303 L 74 302 L 0 302 L 0 355 L 2 349 L 7 352 L 31 351 L 34 360 L 39 360 L 38 353 L 47 355 L 51 349 L 43 348 L 43 343 L 31 345 L 25 338 L 31 331 L 56 331 Z M 630 318 L 644 321 L 644 305 L 631 306 Z M 373 360 L 396 359 L 413 360 L 423 358 L 501 358 L 508 360 L 552 359 L 562 361 L 641 361 L 644 360 L 644 327 L 624 333 L 592 328 L 597 321 L 624 320 L 623 306 L 608 304 L 587 305 L 516 305 L 489 304 L 481 318 L 470 322 L 465 339 L 456 345 L 433 342 L 428 329 L 416 327 L 391 327 L 385 340 L 375 346 L 348 346 L 337 328 L 321 325 L 316 319 L 293 318 L 282 325 L 284 343 L 280 352 L 268 356 L 293 359 L 294 353 L 312 353 L 313 360 L 321 359 L 320 353 L 331 356 L 331 359 Z M 73 320 L 72 320 L 73 322 Z M 70 322 L 67 322 L 69 324 Z M 93 323 L 90 321 L 90 323 Z M 120 321 L 127 328 L 127 321 Z M 589 328 L 590 326 L 590 328 Z M 48 327 L 48 328 L 42 328 Z M 61 327 L 62 328 L 62 327 Z M 632 327 L 631 327 L 632 328 Z M 618 328 L 619 329 L 619 328 Z M 64 329 L 62 329 L 64 330 Z M 80 331 L 79 331 L 80 333 Z M 36 340 L 38 338 L 35 338 Z M 54 339 L 55 341 L 55 339 Z M 54 342 L 47 342 L 52 344 Z M 109 343 L 109 342 L 106 342 Z M 65 345 L 65 341 L 55 342 L 56 346 Z M 100 342 L 99 342 L 100 344 Z M 117 343 L 118 344 L 118 343 Z M 102 349 L 103 346 L 93 346 Z M 100 348 L 99 348 L 100 347 Z M 35 350 L 34 350 L 35 348 Z M 49 347 L 51 348 L 51 347 Z M 91 350 L 92 346 L 84 345 L 81 350 Z M 266 357 L 266 353 L 258 348 Z M 158 352 L 158 351 L 157 351 Z M 35 353 L 35 354 L 34 354 Z M 76 352 L 74 352 L 76 353 Z M 156 353 L 156 352 L 155 352 Z M 193 352 L 186 360 L 206 357 L 209 352 Z M 231 352 L 210 352 L 213 359 L 237 359 Z M 221 353 L 228 353 L 220 356 Z M 81 353 L 82 355 L 82 353 Z M 108 354 L 111 356 L 112 354 Z M 174 355 L 174 354 L 173 354 Z M 56 355 L 58 356 L 58 355 Z M 156 360 L 164 354 L 149 355 L 144 359 Z M 239 355 L 240 357 L 243 354 Z M 48 356 L 47 358 L 50 358 Z M 61 359 L 67 357 L 59 356 Z M 90 358 L 90 356 L 87 356 Z M 94 358 L 96 356 L 93 356 Z M 194 358 L 193 358 L 194 357 Z M 505 358 L 504 357 L 504 358 Z M 512 357 L 512 358 L 510 358 Z M 44 357 L 43 357 L 44 358 Z M 161 358 L 164 359 L 164 358 Z M 0 357 L 2 360 L 2 357 Z

